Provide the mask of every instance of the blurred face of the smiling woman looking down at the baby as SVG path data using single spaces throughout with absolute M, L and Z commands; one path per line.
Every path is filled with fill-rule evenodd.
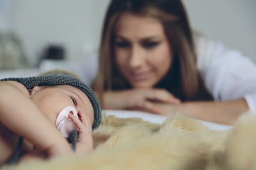
M 169 71 L 172 49 L 156 19 L 124 13 L 115 28 L 116 65 L 134 88 L 153 87 Z

